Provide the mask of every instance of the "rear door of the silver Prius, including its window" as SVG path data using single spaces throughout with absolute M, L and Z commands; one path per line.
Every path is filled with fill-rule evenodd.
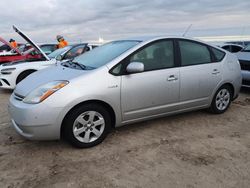
M 202 43 L 180 39 L 181 108 L 205 106 L 222 79 L 222 66 L 215 62 L 210 48 Z

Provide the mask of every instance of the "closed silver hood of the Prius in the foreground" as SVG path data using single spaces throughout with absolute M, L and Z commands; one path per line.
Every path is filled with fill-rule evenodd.
M 61 65 L 54 65 L 47 69 L 37 71 L 25 78 L 17 85 L 14 93 L 21 96 L 27 96 L 27 94 L 29 94 L 34 89 L 49 82 L 57 80 L 70 81 L 78 76 L 86 74 L 87 72 L 89 71 L 67 68 Z

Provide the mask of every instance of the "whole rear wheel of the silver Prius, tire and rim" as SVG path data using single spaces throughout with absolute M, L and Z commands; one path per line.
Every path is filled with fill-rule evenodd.
M 210 112 L 214 114 L 224 113 L 231 104 L 232 95 L 232 89 L 229 86 L 224 85 L 220 87 L 214 95 L 212 104 L 209 108 Z

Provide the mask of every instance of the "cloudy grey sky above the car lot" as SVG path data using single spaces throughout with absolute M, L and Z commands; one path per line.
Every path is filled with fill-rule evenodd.
M 0 0 L 0 36 L 36 42 L 115 40 L 142 35 L 250 35 L 249 0 Z

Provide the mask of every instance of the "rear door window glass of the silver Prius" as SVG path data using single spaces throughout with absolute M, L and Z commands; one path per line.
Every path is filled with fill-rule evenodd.
M 205 45 L 180 40 L 179 46 L 182 66 L 199 65 L 211 62 L 210 52 Z

